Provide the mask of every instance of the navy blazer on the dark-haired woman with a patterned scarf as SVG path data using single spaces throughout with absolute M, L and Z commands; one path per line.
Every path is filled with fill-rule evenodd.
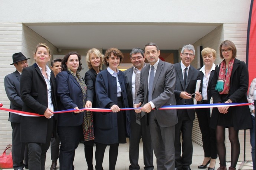
M 83 109 L 83 93 L 79 83 L 68 71 L 61 71 L 56 76 L 59 110 Z M 60 113 L 58 126 L 79 126 L 83 123 L 83 112 Z

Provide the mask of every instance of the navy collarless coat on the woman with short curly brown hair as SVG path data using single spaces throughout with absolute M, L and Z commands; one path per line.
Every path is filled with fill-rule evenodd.
M 118 80 L 122 90 L 124 107 L 128 108 L 127 83 L 122 71 L 119 71 Z M 112 105 L 118 104 L 116 77 L 111 76 L 108 70 L 101 71 L 96 78 L 96 96 L 101 108 L 109 109 Z M 117 114 L 113 112 L 95 113 L 95 142 L 104 144 L 118 143 Z M 126 136 L 129 137 L 131 132 L 129 110 L 126 110 L 125 114 Z

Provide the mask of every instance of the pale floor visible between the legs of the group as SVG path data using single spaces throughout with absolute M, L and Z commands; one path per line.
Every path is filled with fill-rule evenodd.
M 120 144 L 119 145 L 119 153 L 118 153 L 118 159 L 116 163 L 116 170 L 128 170 L 129 168 L 129 140 L 127 139 L 127 144 Z M 74 166 L 75 170 L 87 170 L 87 164 L 85 161 L 85 155 L 84 155 L 84 146 L 83 144 L 79 144 L 78 148 L 76 149 L 76 154 L 75 154 L 75 160 L 74 160 Z M 103 168 L 104 170 L 108 170 L 108 149 L 107 147 L 105 151 L 105 156 L 104 156 L 104 162 L 103 162 Z M 95 149 L 94 149 L 95 151 Z M 143 164 L 143 152 L 142 152 L 142 142 L 140 143 L 140 155 L 139 155 L 139 165 L 141 167 L 141 170 L 143 170 L 144 164 Z M 241 153 L 242 154 L 242 153 Z M 193 143 L 193 160 L 192 164 L 190 165 L 190 168 L 192 170 L 198 170 L 197 166 L 201 165 L 202 161 L 204 159 L 204 154 L 203 154 L 203 147 L 200 145 Z M 47 151 L 47 157 L 46 157 L 46 164 L 45 164 L 45 169 L 49 170 L 51 166 L 51 159 L 50 159 L 50 149 Z M 95 166 L 95 159 L 93 160 L 94 166 Z M 238 170 L 240 167 L 241 162 L 237 163 L 236 169 Z M 156 159 L 154 157 L 154 166 L 155 169 L 156 167 Z M 217 159 L 216 162 L 216 167 L 217 169 L 219 166 L 219 159 Z M 227 163 L 227 167 L 230 166 L 229 163 Z M 57 166 L 59 170 L 59 162 Z M 252 170 L 252 164 L 247 163 L 244 164 L 243 170 Z M 7 170 L 7 169 L 6 169 Z M 24 169 L 25 170 L 25 169 Z

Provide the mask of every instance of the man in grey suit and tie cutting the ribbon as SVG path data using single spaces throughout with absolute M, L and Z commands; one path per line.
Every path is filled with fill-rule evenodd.
M 148 113 L 147 121 L 158 170 L 174 170 L 175 124 L 178 122 L 176 110 L 158 110 L 164 105 L 175 105 L 175 69 L 173 64 L 159 59 L 157 44 L 148 43 L 144 47 L 144 56 L 149 65 L 141 70 L 140 89 L 134 107 L 145 105 L 135 112 Z M 154 109 L 154 110 L 152 110 Z

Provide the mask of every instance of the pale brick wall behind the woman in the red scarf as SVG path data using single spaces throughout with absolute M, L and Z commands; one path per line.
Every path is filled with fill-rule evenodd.
M 219 54 L 219 45 L 224 40 L 231 40 L 234 42 L 237 48 L 237 59 L 246 61 L 246 38 L 247 38 L 247 24 L 221 24 L 219 27 L 211 31 L 209 34 L 198 40 L 193 45 L 195 48 L 197 46 L 210 47 L 216 50 L 217 57 L 215 64 L 219 64 L 222 60 Z M 194 60 L 192 65 L 197 67 L 197 60 Z M 227 161 L 231 161 L 230 153 L 231 146 L 228 137 L 228 129 L 226 129 L 226 148 L 227 148 Z M 198 125 L 198 120 L 194 120 L 193 126 L 193 141 L 202 146 L 201 132 Z M 239 141 L 241 147 L 241 153 L 239 161 L 243 160 L 243 147 L 244 147 L 244 130 L 239 131 Z M 251 146 L 250 146 L 250 131 L 246 130 L 246 160 L 252 160 L 251 158 Z

